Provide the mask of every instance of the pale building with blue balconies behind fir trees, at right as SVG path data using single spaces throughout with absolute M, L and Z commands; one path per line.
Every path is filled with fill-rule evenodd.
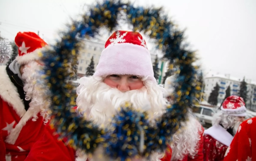
M 226 74 L 226 75 L 211 74 L 206 76 L 204 80 L 204 83 L 205 83 L 204 97 L 206 101 L 208 101 L 211 91 L 216 86 L 216 83 L 218 83 L 218 85 L 220 86 L 220 91 L 218 95 L 218 106 L 220 106 L 225 98 L 225 91 L 227 90 L 228 86 L 230 86 L 231 95 L 238 95 L 238 92 L 240 89 L 240 82 L 242 80 L 243 79 L 230 77 L 229 74 Z M 256 111 L 256 82 L 252 82 L 251 79 L 245 79 L 245 82 L 247 82 L 247 91 L 248 91 L 248 94 L 247 94 L 248 98 L 246 102 L 247 109 Z

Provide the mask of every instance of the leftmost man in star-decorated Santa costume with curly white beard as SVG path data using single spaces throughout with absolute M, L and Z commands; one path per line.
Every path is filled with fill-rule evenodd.
M 15 37 L 19 55 L 7 66 L 0 66 L 0 144 L 6 161 L 23 161 L 42 136 L 47 123 L 49 102 L 40 93 L 41 48 L 47 43 L 32 32 Z

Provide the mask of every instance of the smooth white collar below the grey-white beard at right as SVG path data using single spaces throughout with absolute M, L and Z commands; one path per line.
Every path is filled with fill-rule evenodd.
M 213 125 L 212 127 L 208 128 L 204 131 L 204 134 L 210 135 L 217 141 L 221 142 L 225 146 L 230 146 L 233 136 L 224 129 L 221 125 Z

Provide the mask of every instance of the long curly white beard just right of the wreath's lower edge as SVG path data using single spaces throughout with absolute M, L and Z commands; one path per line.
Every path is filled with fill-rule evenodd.
M 200 141 L 200 134 L 203 133 L 201 124 L 189 112 L 188 120 L 181 125 L 183 127 L 173 135 L 171 161 L 183 160 L 187 155 L 194 158 L 198 153 L 198 141 Z

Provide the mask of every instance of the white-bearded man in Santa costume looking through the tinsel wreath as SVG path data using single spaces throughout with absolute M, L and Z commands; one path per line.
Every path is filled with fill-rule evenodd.
M 115 31 L 106 41 L 94 75 L 82 77 L 79 83 L 76 110 L 85 112 L 86 118 L 99 126 L 109 127 L 113 115 L 125 102 L 132 103 L 136 109 L 147 105 L 146 107 L 149 108 L 144 110 L 148 111 L 151 120 L 161 116 L 166 109 L 167 100 L 164 98 L 166 91 L 154 78 L 146 42 L 137 32 Z M 49 140 L 47 135 L 42 138 Z M 50 160 L 58 160 L 60 154 L 41 148 L 46 144 L 43 140 L 38 142 L 41 144 L 35 148 L 36 155 L 31 160 L 47 160 L 49 153 Z M 50 149 L 58 149 L 58 146 L 63 144 L 47 145 L 52 146 L 47 146 Z M 98 149 L 97 154 L 103 154 L 102 149 Z M 150 161 L 160 160 L 163 156 L 164 154 L 155 153 L 151 155 Z M 96 154 L 93 158 L 88 158 L 86 154 L 78 151 L 76 161 L 86 160 L 110 159 L 97 158 Z

